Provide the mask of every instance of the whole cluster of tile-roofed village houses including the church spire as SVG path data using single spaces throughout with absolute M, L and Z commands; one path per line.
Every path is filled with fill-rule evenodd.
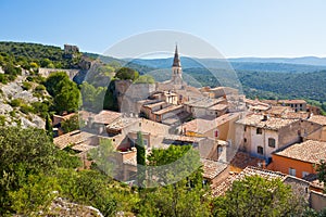
M 80 110 L 80 129 L 61 123 L 76 113 L 54 115 L 54 144 L 72 149 L 88 168 L 88 152 L 108 139 L 120 168 L 115 179 L 137 184 L 137 135 L 146 152 L 191 144 L 200 153 L 204 182 L 223 195 L 235 180 L 258 175 L 280 178 L 316 210 L 326 206 L 316 167 L 326 159 L 326 116 L 304 100 L 251 100 L 230 87 L 195 88 L 183 79 L 177 47 L 170 80 L 115 80 L 120 112 Z

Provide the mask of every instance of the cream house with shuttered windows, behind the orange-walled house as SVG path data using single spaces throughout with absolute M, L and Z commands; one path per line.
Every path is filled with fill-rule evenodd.
M 251 114 L 236 123 L 236 143 L 253 156 L 271 161 L 276 150 L 302 141 L 321 128 L 305 119 L 286 119 Z

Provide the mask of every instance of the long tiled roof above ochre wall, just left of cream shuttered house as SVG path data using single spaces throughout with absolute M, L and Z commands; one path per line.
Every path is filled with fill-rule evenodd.
M 238 116 L 238 113 L 228 113 L 214 119 L 196 118 L 188 123 L 185 123 L 183 125 L 183 129 L 186 129 L 186 131 L 204 133 L 213 128 L 217 128 L 217 126 L 223 125 L 224 123 L 229 122 Z

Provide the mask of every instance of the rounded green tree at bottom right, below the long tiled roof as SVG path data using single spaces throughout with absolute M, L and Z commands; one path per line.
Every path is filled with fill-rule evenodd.
M 280 179 L 248 176 L 234 181 L 225 196 L 215 199 L 214 216 L 297 216 L 304 210 L 291 187 Z

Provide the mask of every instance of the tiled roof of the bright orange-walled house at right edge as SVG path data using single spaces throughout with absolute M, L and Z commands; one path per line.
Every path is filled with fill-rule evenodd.
M 319 164 L 321 159 L 326 159 L 326 142 L 306 140 L 302 143 L 296 143 L 275 155 L 285 156 L 292 159 Z

